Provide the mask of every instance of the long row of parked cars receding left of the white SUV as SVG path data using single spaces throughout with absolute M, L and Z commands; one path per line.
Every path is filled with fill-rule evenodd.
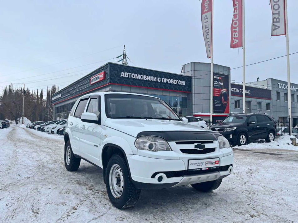
M 32 124 L 27 125 L 27 128 L 46 132 L 49 134 L 64 134 L 66 119 L 55 121 L 35 121 Z

